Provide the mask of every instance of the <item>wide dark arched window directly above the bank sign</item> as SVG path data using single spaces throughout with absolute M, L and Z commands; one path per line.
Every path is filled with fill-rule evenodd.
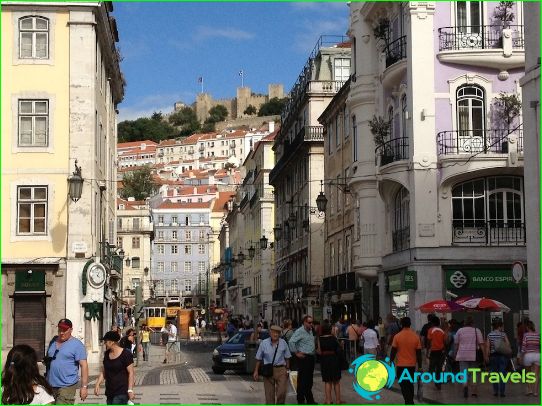
M 525 244 L 523 178 L 494 176 L 452 189 L 453 241 Z

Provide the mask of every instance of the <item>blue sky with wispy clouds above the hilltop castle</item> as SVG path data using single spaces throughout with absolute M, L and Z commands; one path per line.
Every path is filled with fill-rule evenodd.
M 346 35 L 346 2 L 115 2 L 126 77 L 119 122 L 169 113 L 203 90 L 235 97 L 244 85 L 289 92 L 321 35 Z

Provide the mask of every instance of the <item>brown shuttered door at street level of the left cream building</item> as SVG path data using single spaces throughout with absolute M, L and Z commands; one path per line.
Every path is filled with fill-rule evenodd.
M 45 295 L 15 295 L 13 345 L 34 348 L 38 359 L 45 354 Z

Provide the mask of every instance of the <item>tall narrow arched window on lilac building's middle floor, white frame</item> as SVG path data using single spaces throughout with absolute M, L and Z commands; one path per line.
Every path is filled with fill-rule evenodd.
M 485 94 L 480 86 L 457 89 L 457 130 L 459 152 L 479 152 L 485 148 Z

